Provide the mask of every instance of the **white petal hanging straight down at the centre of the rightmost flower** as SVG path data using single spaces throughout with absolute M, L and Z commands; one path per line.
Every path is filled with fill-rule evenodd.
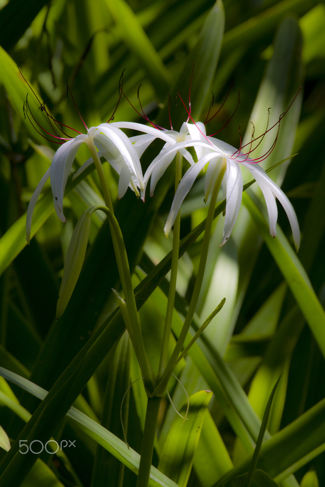
M 223 241 L 220 247 L 228 240 L 235 226 L 243 195 L 243 177 L 238 164 L 227 157 L 227 189 L 226 189 L 226 213 L 223 225 Z

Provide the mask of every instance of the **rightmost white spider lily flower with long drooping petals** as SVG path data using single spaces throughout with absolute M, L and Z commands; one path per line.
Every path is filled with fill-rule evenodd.
M 191 141 L 190 145 L 194 145 L 195 143 L 199 144 L 199 142 Z M 244 166 L 255 178 L 263 192 L 269 219 L 270 234 L 273 237 L 276 236 L 275 226 L 278 219 L 278 208 L 275 198 L 278 198 L 288 217 L 293 234 L 293 241 L 296 249 L 298 250 L 300 244 L 300 230 L 296 213 L 282 189 L 280 189 L 280 187 L 278 187 L 267 176 L 264 169 L 262 169 L 253 159 L 248 158 L 246 154 L 241 154 L 239 150 L 236 150 L 234 147 L 221 140 L 214 139 L 213 137 L 206 137 L 205 143 L 201 142 L 201 144 L 201 147 L 205 147 L 206 153 L 184 174 L 182 181 L 175 193 L 166 225 L 164 227 L 165 235 L 168 236 L 185 196 L 189 192 L 195 179 L 204 166 L 209 163 L 205 176 L 204 201 L 207 201 L 209 193 L 214 187 L 221 166 L 225 162 L 226 173 L 225 181 L 223 179 L 223 190 L 225 189 L 226 193 L 226 209 L 223 226 L 223 240 L 220 246 L 225 244 L 225 242 L 228 240 L 237 220 L 243 195 L 243 177 L 240 166 Z M 178 146 L 183 148 L 184 143 L 178 144 Z M 174 150 L 177 150 L 177 146 L 174 147 Z

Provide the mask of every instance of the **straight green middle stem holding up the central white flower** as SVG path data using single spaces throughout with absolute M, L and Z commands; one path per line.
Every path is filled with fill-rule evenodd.
M 175 172 L 175 193 L 182 178 L 182 163 L 183 163 L 183 156 L 180 152 L 177 152 L 176 172 Z M 173 311 L 174 311 L 177 267 L 178 267 L 179 250 L 180 250 L 180 228 L 181 228 L 181 212 L 179 211 L 175 219 L 174 229 L 173 229 L 171 273 L 170 273 L 167 309 L 166 309 L 165 324 L 163 328 L 163 342 L 162 342 L 162 351 L 160 355 L 158 375 L 163 374 L 163 371 L 167 364 L 168 345 L 169 345 L 169 337 L 170 337 L 170 330 L 171 330 L 171 322 L 172 322 Z

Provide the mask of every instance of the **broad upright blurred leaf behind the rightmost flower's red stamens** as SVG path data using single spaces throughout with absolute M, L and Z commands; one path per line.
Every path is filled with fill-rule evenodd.
M 265 76 L 249 118 L 256 129 L 255 137 L 263 133 L 266 127 L 270 128 L 277 124 L 280 115 L 288 109 L 297 95 L 303 81 L 301 50 L 302 34 L 298 22 L 296 19 L 288 17 L 283 20 L 276 34 L 273 55 L 267 64 Z M 281 119 L 278 135 L 277 127 L 274 127 L 273 130 L 265 134 L 263 139 L 259 139 L 258 147 L 252 151 L 251 157 L 254 159 L 263 156 L 272 147 L 277 135 L 275 147 L 263 161 L 264 169 L 270 168 L 274 163 L 289 157 L 292 153 L 301 103 L 302 92 L 298 94 L 288 112 Z M 245 133 L 243 145 L 250 142 L 251 125 Z M 273 169 L 270 173 L 270 177 L 279 186 L 282 184 L 288 164 L 289 161 Z M 261 194 L 257 185 L 253 187 L 253 190 Z

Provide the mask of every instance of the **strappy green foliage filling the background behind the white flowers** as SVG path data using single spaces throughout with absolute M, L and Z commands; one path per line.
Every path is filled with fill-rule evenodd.
M 68 184 L 66 225 L 55 215 L 47 186 L 33 217 L 36 237 L 26 246 L 26 207 L 58 146 L 44 140 L 24 119 L 22 105 L 28 93 L 33 115 L 50 129 L 33 87 L 59 121 L 82 131 L 72 99 L 66 96 L 66 80 L 83 120 L 91 127 L 114 112 L 125 69 L 123 90 L 133 107 L 141 112 L 137 97 L 141 84 L 143 109 L 151 120 L 169 129 L 168 92 L 173 127 L 179 130 L 187 114 L 180 101 L 174 106 L 174 99 L 183 91 L 187 103 L 195 45 L 214 2 L 4 3 L 0 2 L 0 366 L 51 392 L 41 415 L 38 398 L 22 393 L 17 385 L 10 389 L 0 380 L 0 426 L 5 431 L 0 430 L 0 445 L 5 445 L 6 435 L 10 440 L 25 439 L 21 434 L 30 431 L 21 433 L 24 423 L 37 410 L 29 424 L 39 428 L 35 435 L 43 436 L 35 438 L 44 438 L 44 442 L 51 435 L 59 442 L 76 439 L 76 449 L 63 450 L 61 456 L 42 453 L 22 485 L 95 487 L 110 478 L 109 485 L 133 486 L 136 476 L 131 470 L 136 471 L 137 460 L 132 451 L 141 448 L 146 401 L 141 381 L 133 384 L 124 403 L 131 453 L 107 437 L 108 433 L 94 432 L 95 427 L 85 419 L 102 421 L 104 428 L 122 438 L 122 397 L 130 379 L 140 376 L 127 337 L 117 345 L 124 330 L 122 320 L 118 314 L 110 319 L 116 306 L 110 289 L 119 289 L 119 279 L 109 228 L 100 217 L 93 218 L 86 261 L 72 299 L 60 320 L 54 320 L 66 249 L 82 211 L 102 201 L 99 181 L 89 170 L 80 184 Z M 281 122 L 275 150 L 262 164 L 267 169 L 298 153 L 269 175 L 292 201 L 302 243 L 297 259 L 288 243 L 291 234 L 282 207 L 279 225 L 283 232 L 279 228 L 275 240 L 269 236 L 264 200 L 255 185 L 246 191 L 233 234 L 222 249 L 218 245 L 223 217 L 219 217 L 193 330 L 223 297 L 226 304 L 175 372 L 192 395 L 190 403 L 204 406 L 196 406 L 199 412 L 192 418 L 202 430 L 201 436 L 182 431 L 190 458 L 184 461 L 185 450 L 175 449 L 180 418 L 174 420 L 176 413 L 164 398 L 153 465 L 180 486 L 221 486 L 231 476 L 243 474 L 267 399 L 282 374 L 258 468 L 284 486 L 325 485 L 325 5 L 310 0 L 224 0 L 223 7 L 221 2 L 217 4 L 224 7 L 225 15 L 219 62 L 215 70 L 213 59 L 218 52 L 211 49 L 206 53 L 211 56 L 211 73 L 200 72 L 200 62 L 194 65 L 192 113 L 204 122 L 211 91 L 216 112 L 234 82 L 235 91 L 230 91 L 207 125 L 207 133 L 224 126 L 217 136 L 238 147 L 239 125 L 246 142 L 252 133 L 250 122 L 254 136 L 260 135 L 268 108 L 270 123 L 275 123 L 302 86 Z M 211 36 L 216 35 L 214 29 L 220 29 L 222 35 L 221 25 L 208 27 Z M 210 75 L 213 81 L 208 86 Z M 232 117 L 239 90 L 240 105 Z M 143 122 L 130 103 L 122 97 L 115 120 Z M 257 155 L 268 150 L 274 137 L 275 133 L 265 137 Z M 159 149 L 157 146 L 152 153 Z M 150 162 L 152 153 L 145 154 L 144 164 Z M 81 148 L 76 167 L 88 157 Z M 160 281 L 153 269 L 171 249 L 163 225 L 173 198 L 172 171 L 167 171 L 154 197 L 147 195 L 143 204 L 129 190 L 118 201 L 117 176 L 108 164 L 103 168 L 134 269 L 138 303 L 146 300 L 141 311 L 142 333 L 155 366 L 168 293 L 168 281 L 163 277 L 168 269 L 162 266 Z M 206 216 L 203 186 L 203 179 L 198 180 L 183 204 L 183 238 Z M 201 242 L 198 236 L 180 259 L 175 336 L 193 288 Z M 150 279 L 143 281 L 147 274 Z M 196 395 L 202 390 L 213 392 L 208 409 L 205 396 Z M 183 389 L 173 379 L 168 391 L 180 410 L 185 402 Z M 86 416 L 79 422 L 76 417 L 62 420 L 77 396 L 75 406 Z M 104 440 L 99 439 L 100 434 L 106 435 Z M 119 453 L 115 448 L 120 448 Z M 1 449 L 0 457 L 4 455 Z M 15 458 L 28 463 L 27 455 L 17 453 Z M 124 478 L 121 462 L 128 467 Z M 233 466 L 232 473 L 223 478 Z M 30 467 L 22 466 L 21 477 L 7 469 L 0 485 L 9 485 L 7 478 L 11 478 L 10 485 L 20 485 Z M 175 485 L 156 475 L 150 485 Z M 256 482 L 265 485 L 266 481 Z

